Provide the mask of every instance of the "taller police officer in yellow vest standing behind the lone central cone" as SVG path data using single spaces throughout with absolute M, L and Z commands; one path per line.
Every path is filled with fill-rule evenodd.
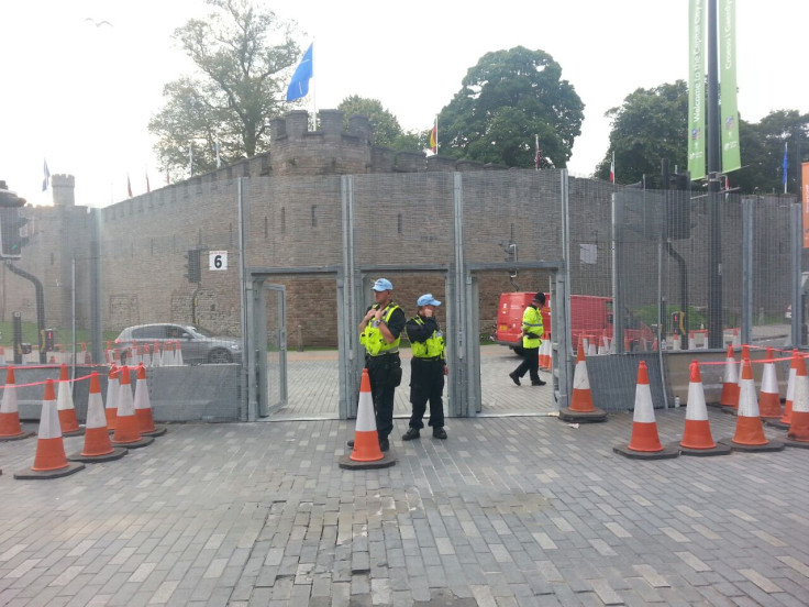
M 365 366 L 370 379 L 381 451 L 390 449 L 388 435 L 394 430 L 394 393 L 401 383 L 399 336 L 406 322 L 404 312 L 394 302 L 392 290 L 394 285 L 387 278 L 376 280 L 376 302 L 359 323 L 359 343 L 365 346 Z

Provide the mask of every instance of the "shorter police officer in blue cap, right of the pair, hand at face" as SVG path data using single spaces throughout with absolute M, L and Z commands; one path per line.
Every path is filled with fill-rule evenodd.
M 410 416 L 410 428 L 402 440 L 411 441 L 419 438 L 419 431 L 424 428 L 422 418 L 430 401 L 430 421 L 433 438 L 445 439 L 444 404 L 441 395 L 444 391 L 444 375 L 447 373 L 444 356 L 444 334 L 439 321 L 435 320 L 435 307 L 441 306 L 431 293 L 422 295 L 415 302 L 419 307 L 418 316 L 408 320 L 404 329 L 413 350 L 410 362 L 410 402 L 413 412 Z

